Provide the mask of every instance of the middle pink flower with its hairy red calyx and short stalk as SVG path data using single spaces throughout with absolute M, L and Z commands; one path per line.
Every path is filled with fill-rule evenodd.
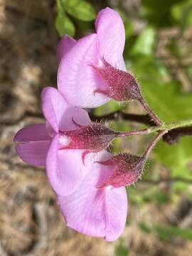
M 92 123 L 85 110 L 68 105 L 53 87 L 42 92 L 42 110 L 46 124 L 21 129 L 14 139 L 16 151 L 28 164 L 46 165 L 51 186 L 62 195 L 73 191 L 86 174 L 91 164 L 87 154 L 102 151 L 115 137 L 129 136 Z

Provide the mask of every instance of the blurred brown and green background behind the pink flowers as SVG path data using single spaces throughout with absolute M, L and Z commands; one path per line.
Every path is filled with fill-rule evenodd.
M 43 122 L 40 94 L 56 87 L 56 46 L 94 30 L 110 6 L 124 20 L 124 60 L 152 110 L 164 122 L 192 117 L 191 0 L 0 0 L 0 255 L 192 255 L 192 138 L 159 142 L 142 176 L 127 189 L 121 238 L 105 242 L 65 226 L 44 168 L 16 155 L 14 134 Z M 118 130 L 146 126 L 119 112 L 144 114 L 136 102 L 110 102 L 92 117 L 117 112 Z M 116 119 L 116 120 L 113 120 Z M 117 139 L 115 153 L 142 154 L 151 136 Z

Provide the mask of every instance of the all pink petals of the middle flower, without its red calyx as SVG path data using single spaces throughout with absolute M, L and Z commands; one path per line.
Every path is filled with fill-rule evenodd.
M 82 150 L 61 149 L 70 138 L 60 130 L 80 129 L 73 122 L 89 125 L 85 110 L 65 102 L 58 90 L 46 87 L 42 92 L 42 109 L 46 124 L 36 124 L 18 131 L 14 142 L 23 161 L 33 166 L 45 166 L 51 186 L 56 193 L 66 195 L 75 190 L 87 173 L 82 162 Z M 87 165 L 89 163 L 86 163 Z

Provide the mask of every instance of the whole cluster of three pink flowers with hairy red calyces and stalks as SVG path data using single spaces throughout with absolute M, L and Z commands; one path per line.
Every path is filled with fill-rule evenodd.
M 95 21 L 96 33 L 75 41 L 65 35 L 58 44 L 58 90 L 46 87 L 41 106 L 46 124 L 18 131 L 14 138 L 18 155 L 33 166 L 46 166 L 50 186 L 70 228 L 113 241 L 119 238 L 127 218 L 125 186 L 142 174 L 144 156 L 107 151 L 114 132 L 92 123 L 82 108 L 97 107 L 111 99 L 138 100 L 156 124 L 134 76 L 127 73 L 122 53 L 124 25 L 119 14 L 104 9 Z M 136 133 L 137 134 L 137 133 Z

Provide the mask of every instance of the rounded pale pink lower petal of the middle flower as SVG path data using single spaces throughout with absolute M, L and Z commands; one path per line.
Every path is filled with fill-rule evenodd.
M 54 191 L 66 196 L 75 191 L 88 169 L 82 163 L 82 151 L 58 150 L 58 138 L 52 139 L 48 149 L 46 171 Z

